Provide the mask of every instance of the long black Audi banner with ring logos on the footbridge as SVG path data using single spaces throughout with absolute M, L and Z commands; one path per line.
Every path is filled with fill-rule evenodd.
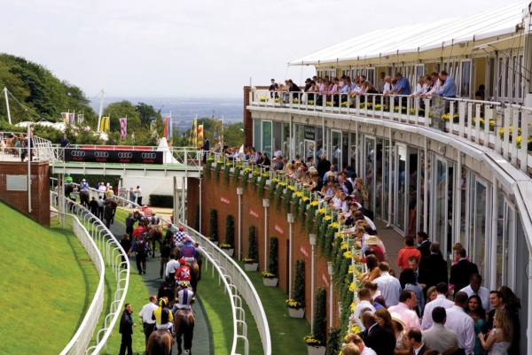
M 163 151 L 65 149 L 65 161 L 81 163 L 163 164 Z

